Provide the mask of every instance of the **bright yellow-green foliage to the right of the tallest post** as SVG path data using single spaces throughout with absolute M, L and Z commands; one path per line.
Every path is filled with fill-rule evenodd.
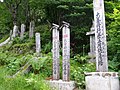
M 118 72 L 120 70 L 120 2 L 109 2 L 112 5 L 106 13 L 108 33 L 108 58 L 109 70 Z

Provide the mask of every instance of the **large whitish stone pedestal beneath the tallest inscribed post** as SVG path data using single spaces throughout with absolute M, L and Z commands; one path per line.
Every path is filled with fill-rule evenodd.
M 90 72 L 85 75 L 86 90 L 120 90 L 116 72 Z

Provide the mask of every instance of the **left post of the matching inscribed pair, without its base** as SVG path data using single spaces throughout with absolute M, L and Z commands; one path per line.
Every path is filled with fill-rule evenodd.
M 53 80 L 59 80 L 59 31 L 58 25 L 53 24 L 52 27 L 52 43 L 53 43 Z

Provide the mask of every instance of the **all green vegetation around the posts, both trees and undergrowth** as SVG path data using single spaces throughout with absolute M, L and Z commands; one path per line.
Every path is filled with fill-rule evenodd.
M 17 0 L 19 1 L 19 0 Z M 17 2 L 16 1 L 16 2 Z M 52 79 L 52 40 L 51 23 L 61 25 L 63 20 L 71 28 L 71 80 L 76 81 L 79 89 L 85 88 L 85 72 L 95 71 L 95 64 L 89 63 L 89 37 L 93 20 L 91 0 L 21 0 L 17 18 L 9 12 L 9 5 L 15 0 L 0 2 L 0 43 L 6 40 L 13 29 L 14 22 L 26 24 L 24 39 L 14 38 L 12 44 L 0 47 L 0 90 L 49 90 L 44 80 Z M 120 72 L 120 1 L 105 1 L 106 29 L 109 71 Z M 14 21 L 14 19 L 17 19 Z M 28 30 L 31 20 L 35 21 L 35 31 L 41 34 L 42 51 L 35 53 L 35 39 L 29 39 Z M 60 30 L 60 41 L 62 42 Z M 61 49 L 60 45 L 60 49 Z M 60 52 L 61 54 L 61 52 Z M 62 55 L 62 54 L 61 54 Z M 12 76 L 26 63 L 30 72 Z M 60 56 L 62 66 L 62 56 Z M 62 68 L 60 68 L 62 78 Z M 48 86 L 48 87 L 46 87 Z

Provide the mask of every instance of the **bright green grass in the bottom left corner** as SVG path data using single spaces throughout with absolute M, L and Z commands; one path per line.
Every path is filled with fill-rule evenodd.
M 40 75 L 30 74 L 11 78 L 6 76 L 5 67 L 0 67 L 0 73 L 0 90 L 51 90 Z

